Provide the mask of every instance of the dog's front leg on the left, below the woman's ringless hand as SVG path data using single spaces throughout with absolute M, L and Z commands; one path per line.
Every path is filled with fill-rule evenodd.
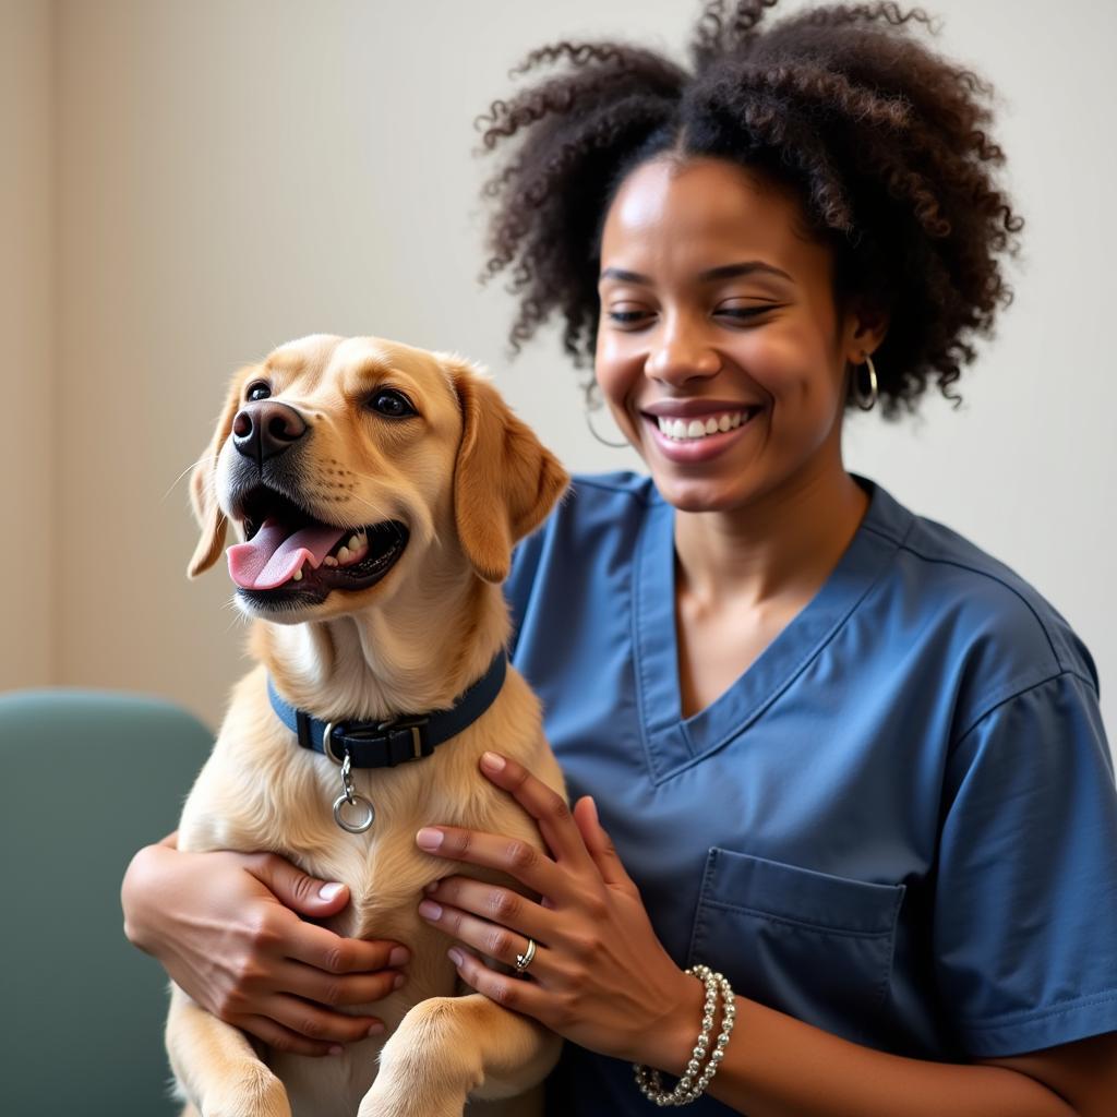
M 283 1082 L 260 1062 L 245 1033 L 200 1009 L 176 985 L 171 986 L 166 1053 L 201 1117 L 290 1117 Z

